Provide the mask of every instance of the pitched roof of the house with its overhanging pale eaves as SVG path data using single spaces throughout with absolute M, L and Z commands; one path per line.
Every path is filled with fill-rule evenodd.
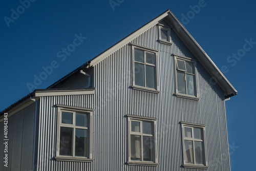
M 51 86 L 49 86 L 47 89 L 53 89 L 56 88 L 58 84 L 60 84 L 63 81 L 67 81 L 70 79 L 73 75 L 80 72 L 80 70 L 86 70 L 90 67 L 93 67 L 97 65 L 100 61 L 102 61 L 104 58 L 108 57 L 112 53 L 114 53 L 116 50 L 121 48 L 122 46 L 129 44 L 134 37 L 137 35 L 140 35 L 147 29 L 150 29 L 151 27 L 158 24 L 162 19 L 165 19 L 170 26 L 173 26 L 172 29 L 178 34 L 178 36 L 181 38 L 181 40 L 184 42 L 184 44 L 187 46 L 187 48 L 196 56 L 198 61 L 204 66 L 204 68 L 207 70 L 207 72 L 212 76 L 212 78 L 215 79 L 215 81 L 219 84 L 219 86 L 222 88 L 222 90 L 225 93 L 225 98 L 229 98 L 231 96 L 237 95 L 237 90 L 234 89 L 232 84 L 227 80 L 227 78 L 224 76 L 224 74 L 220 71 L 220 69 L 215 65 L 215 63 L 210 59 L 210 57 L 204 52 L 204 50 L 200 47 L 198 42 L 189 34 L 189 32 L 185 29 L 185 27 L 180 23 L 180 21 L 177 19 L 177 17 L 173 14 L 172 11 L 169 9 L 157 16 L 156 18 L 152 19 L 150 22 L 146 23 L 139 29 L 135 30 L 131 34 L 127 35 L 120 41 L 118 41 L 116 44 L 111 46 L 110 48 L 106 49 L 99 55 L 95 56 L 88 62 L 84 63 L 65 77 L 62 77 L 55 83 L 53 83 Z M 56 89 L 54 89 L 56 90 Z M 34 91 L 35 92 L 35 91 Z M 20 103 L 24 101 L 25 99 L 32 97 L 33 93 L 28 94 L 27 96 L 23 97 L 22 99 L 18 100 L 14 104 L 10 105 L 7 109 L 2 111 L 0 113 L 3 114 L 3 112 L 6 112 L 7 110 L 11 109 L 13 106 L 17 105 L 17 103 Z

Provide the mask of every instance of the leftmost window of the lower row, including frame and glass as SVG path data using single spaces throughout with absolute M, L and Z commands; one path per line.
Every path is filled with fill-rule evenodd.
M 58 106 L 56 159 L 92 158 L 92 111 L 70 106 Z

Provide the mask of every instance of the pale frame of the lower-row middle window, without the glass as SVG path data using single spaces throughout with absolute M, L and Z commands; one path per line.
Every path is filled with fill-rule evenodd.
M 148 117 L 141 117 L 141 116 L 134 116 L 134 115 L 126 115 L 128 120 L 128 162 L 129 165 L 148 165 L 148 166 L 157 166 L 158 163 L 158 157 L 157 157 L 157 119 L 156 118 L 148 118 Z M 140 133 L 132 132 L 132 121 L 140 122 Z M 142 132 L 142 122 L 152 122 L 153 123 L 153 161 L 143 161 L 143 156 L 141 161 L 137 160 L 131 160 L 131 135 L 139 135 L 141 136 L 141 154 L 143 153 L 143 135 L 144 136 L 151 136 L 148 134 L 143 134 Z

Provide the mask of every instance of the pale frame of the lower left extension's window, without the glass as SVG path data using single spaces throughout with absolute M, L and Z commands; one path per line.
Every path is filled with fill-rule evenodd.
M 80 162 L 92 162 L 94 161 L 92 154 L 92 145 L 93 145 L 93 111 L 92 109 L 86 108 L 77 108 L 73 106 L 66 105 L 56 105 L 57 106 L 57 140 L 56 140 L 56 156 L 55 159 L 59 161 L 80 161 Z M 61 123 L 62 112 L 69 112 L 73 114 L 73 123 L 65 124 Z M 76 113 L 86 113 L 88 114 L 88 127 L 76 126 L 75 125 L 75 114 Z M 73 130 L 73 142 L 72 142 L 72 156 L 61 156 L 59 155 L 59 146 L 60 146 L 60 127 L 72 127 Z M 88 130 L 88 157 L 75 156 L 75 129 L 84 129 Z

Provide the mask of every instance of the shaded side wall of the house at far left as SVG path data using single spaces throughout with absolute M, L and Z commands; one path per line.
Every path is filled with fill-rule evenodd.
M 8 118 L 8 167 L 5 167 L 3 161 L 1 161 L 0 170 L 32 170 L 34 124 L 35 103 Z M 4 122 L 0 123 L 0 128 L 0 154 L 3 160 Z

